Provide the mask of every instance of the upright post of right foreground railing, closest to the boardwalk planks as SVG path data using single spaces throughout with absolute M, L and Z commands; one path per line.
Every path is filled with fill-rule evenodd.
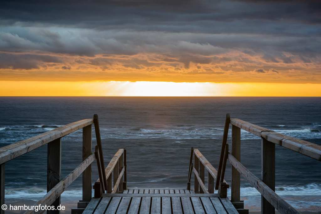
M 235 125 L 232 125 L 232 155 L 240 161 L 241 159 L 241 129 Z M 232 166 L 232 181 L 231 181 L 231 201 L 240 201 L 240 184 L 241 175 Z

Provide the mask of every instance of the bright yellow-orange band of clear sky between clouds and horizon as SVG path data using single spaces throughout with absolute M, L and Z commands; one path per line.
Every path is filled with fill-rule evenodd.
M 0 96 L 320 96 L 321 84 L 0 81 Z

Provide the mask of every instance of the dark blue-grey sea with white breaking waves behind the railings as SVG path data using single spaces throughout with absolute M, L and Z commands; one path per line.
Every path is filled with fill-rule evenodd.
M 129 188 L 186 188 L 191 147 L 218 168 L 227 113 L 321 145 L 320 97 L 0 97 L 0 109 L 0 147 L 98 114 L 105 165 L 125 147 Z M 62 138 L 61 178 L 81 161 L 79 130 Z M 243 130 L 241 162 L 261 176 L 261 140 Z M 47 145 L 5 163 L 6 204 L 38 201 L 46 193 L 46 176 Z M 94 163 L 92 181 L 97 178 Z M 225 179 L 231 180 L 230 163 Z M 296 209 L 321 210 L 320 161 L 276 145 L 275 179 L 276 193 Z M 62 203 L 76 208 L 81 188 L 80 176 Z M 260 210 L 260 193 L 243 178 L 241 198 L 247 209 Z

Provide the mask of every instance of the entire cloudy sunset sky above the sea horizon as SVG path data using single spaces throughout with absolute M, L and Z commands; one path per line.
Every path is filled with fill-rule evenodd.
M 321 96 L 320 36 L 318 1 L 4 0 L 0 96 Z

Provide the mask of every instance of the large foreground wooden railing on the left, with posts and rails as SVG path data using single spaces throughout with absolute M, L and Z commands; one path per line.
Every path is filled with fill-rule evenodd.
M 95 125 L 96 133 L 99 129 L 98 116 L 94 115 L 93 119 L 84 119 L 71 124 L 58 127 L 54 130 L 31 137 L 27 140 L 19 141 L 8 146 L 0 148 L 0 201 L 4 204 L 4 166 L 5 163 L 17 158 L 27 152 L 35 150 L 48 144 L 47 151 L 47 194 L 45 194 L 35 205 L 50 205 L 57 208 L 60 205 L 60 195 L 65 189 L 82 174 L 82 202 L 86 203 L 91 200 L 91 163 L 96 159 L 95 154 L 91 151 L 91 124 Z M 61 174 L 61 138 L 67 134 L 82 129 L 82 163 L 76 167 L 64 179 L 60 179 Z M 99 132 L 99 130 L 98 130 Z M 100 135 L 96 137 L 100 138 Z M 101 149 L 101 144 L 100 144 Z M 43 213 L 29 210 L 25 213 Z M 59 213 L 58 210 L 48 210 L 47 213 Z M 4 210 L 1 210 L 1 214 Z

